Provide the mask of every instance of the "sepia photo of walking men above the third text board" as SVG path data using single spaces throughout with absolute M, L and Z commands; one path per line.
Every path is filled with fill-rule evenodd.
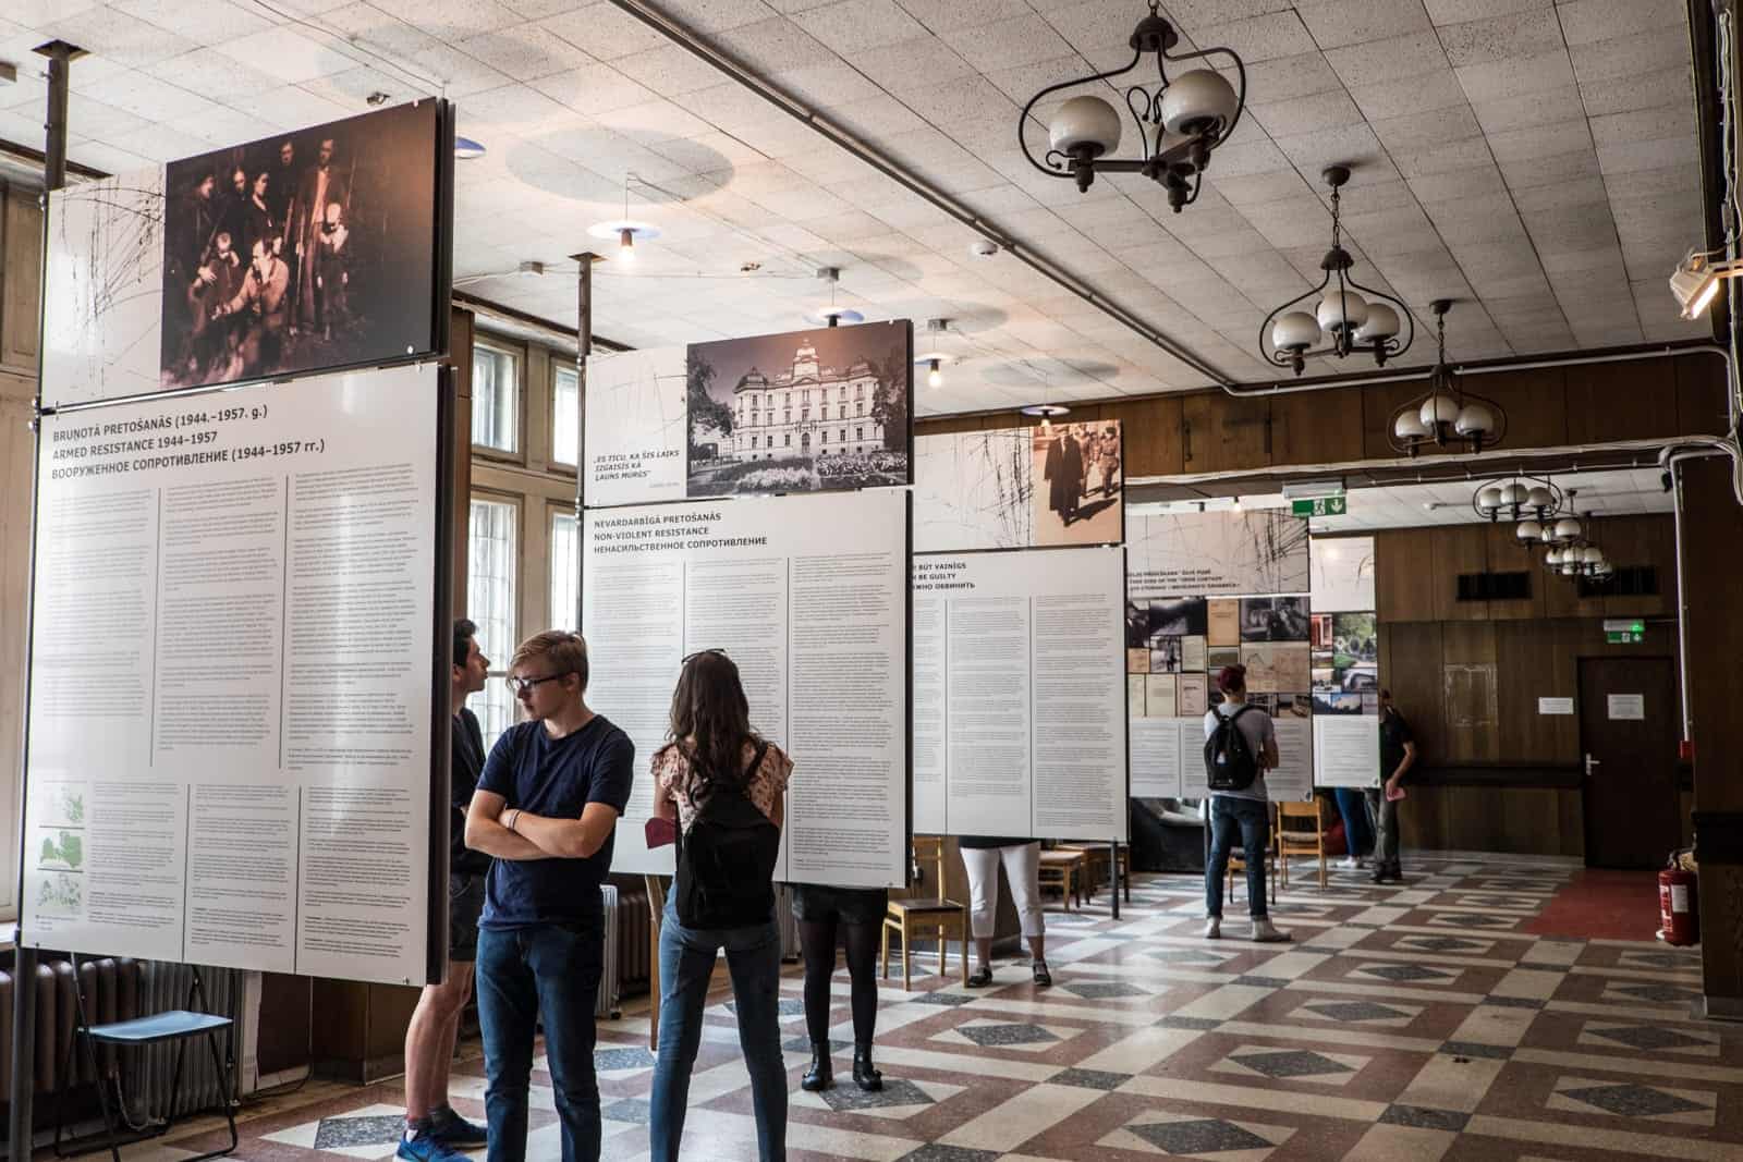
M 1124 538 L 1119 441 L 1119 423 L 1049 423 L 1034 429 L 1034 544 L 1100 545 Z

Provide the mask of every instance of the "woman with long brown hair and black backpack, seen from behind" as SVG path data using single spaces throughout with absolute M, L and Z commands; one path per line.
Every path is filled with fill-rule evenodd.
M 652 1159 L 678 1159 L 708 984 L 725 948 L 739 1045 L 751 1075 L 756 1157 L 779 1162 L 786 1159 L 786 1061 L 774 866 L 793 761 L 751 730 L 739 667 L 718 650 L 685 659 L 671 697 L 669 739 L 654 754 L 655 819 L 648 824 L 650 840 L 666 828 L 678 843 L 678 875 L 659 934 Z

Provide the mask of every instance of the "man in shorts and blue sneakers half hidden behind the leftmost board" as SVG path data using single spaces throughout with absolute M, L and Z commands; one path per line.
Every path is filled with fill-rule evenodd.
M 478 956 L 478 916 L 485 908 L 490 855 L 465 845 L 465 807 L 485 770 L 485 733 L 465 699 L 485 688 L 490 659 L 478 648 L 478 625 L 453 624 L 453 709 L 448 779 L 448 979 L 425 984 L 406 1028 L 406 1132 L 399 1157 L 413 1162 L 457 1162 L 467 1146 L 485 1143 L 485 1127 L 448 1105 L 448 1066 L 460 1035 L 460 1012 L 472 991 Z

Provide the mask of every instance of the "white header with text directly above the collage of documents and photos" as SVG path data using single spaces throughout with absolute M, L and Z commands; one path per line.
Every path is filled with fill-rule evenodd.
M 1135 514 L 1126 551 L 1135 594 L 1302 594 L 1311 585 L 1307 521 L 1271 509 Z

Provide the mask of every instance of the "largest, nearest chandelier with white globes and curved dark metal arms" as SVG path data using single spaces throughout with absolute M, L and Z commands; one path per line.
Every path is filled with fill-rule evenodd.
M 1049 178 L 1070 178 L 1079 190 L 1088 190 L 1098 172 L 1143 174 L 1168 190 L 1168 204 L 1178 214 L 1197 200 L 1199 185 L 1210 157 L 1241 120 L 1246 108 L 1246 66 L 1232 49 L 1199 49 L 1171 52 L 1180 44 L 1180 33 L 1157 12 L 1150 0 L 1150 14 L 1138 21 L 1128 44 L 1133 49 L 1131 64 L 1105 73 L 1048 85 L 1028 99 L 1016 122 L 1016 143 L 1030 166 Z M 1065 101 L 1048 124 L 1048 153 L 1035 160 L 1028 148 L 1028 115 L 1044 98 L 1072 89 L 1110 82 L 1138 68 L 1147 54 L 1156 54 L 1156 85 L 1126 89 L 1126 110 L 1138 124 L 1138 157 L 1112 157 L 1119 148 L 1119 111 L 1098 96 L 1075 96 Z M 1236 89 L 1215 68 L 1192 68 L 1175 77 L 1170 64 L 1227 57 L 1241 85 Z

